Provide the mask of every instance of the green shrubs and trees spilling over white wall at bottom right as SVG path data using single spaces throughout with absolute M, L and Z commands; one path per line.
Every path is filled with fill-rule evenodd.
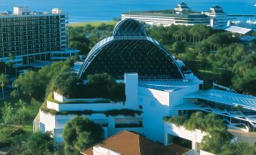
M 230 141 L 233 135 L 227 131 L 224 120 L 221 120 L 216 114 L 205 115 L 202 112 L 195 112 L 188 118 L 181 115 L 164 117 L 163 120 L 176 126 L 184 126 L 187 130 L 200 129 L 203 132 L 207 132 L 207 135 L 203 137 L 200 144 L 202 150 L 220 155 L 248 155 L 256 153 L 256 142 L 254 147 L 244 142 L 232 144 Z M 242 149 L 242 147 L 246 150 Z

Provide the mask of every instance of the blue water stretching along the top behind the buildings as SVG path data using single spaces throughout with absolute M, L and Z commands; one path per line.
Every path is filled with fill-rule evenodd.
M 69 13 L 69 22 L 113 20 L 124 12 L 174 8 L 186 2 L 194 11 L 208 11 L 220 5 L 228 14 L 256 14 L 256 0 L 0 0 L 0 11 L 11 11 L 14 5 L 29 6 L 32 11 L 62 8 Z

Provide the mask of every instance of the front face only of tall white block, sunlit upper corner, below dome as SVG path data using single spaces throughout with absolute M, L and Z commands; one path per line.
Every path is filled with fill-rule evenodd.
M 153 141 L 164 141 L 164 124 L 162 118 L 169 114 L 169 93 L 138 87 L 138 103 L 143 111 L 143 135 Z

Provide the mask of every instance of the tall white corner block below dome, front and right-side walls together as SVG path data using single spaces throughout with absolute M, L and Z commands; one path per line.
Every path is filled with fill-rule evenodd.
M 184 103 L 184 96 L 199 90 L 199 84 L 173 92 L 138 87 L 138 105 L 142 105 L 144 135 L 153 141 L 165 142 L 163 117 L 175 115 L 174 105 Z

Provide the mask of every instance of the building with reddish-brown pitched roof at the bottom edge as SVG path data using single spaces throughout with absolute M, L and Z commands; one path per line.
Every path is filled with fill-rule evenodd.
M 81 151 L 82 155 L 184 155 L 191 150 L 177 144 L 150 141 L 136 132 L 122 131 Z

